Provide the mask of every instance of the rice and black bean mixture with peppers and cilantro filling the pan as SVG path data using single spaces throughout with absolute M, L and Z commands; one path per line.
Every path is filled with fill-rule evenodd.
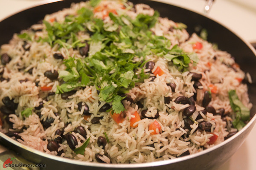
M 0 49 L 1 131 L 81 161 L 175 159 L 248 121 L 250 76 L 148 5 L 72 4 Z

